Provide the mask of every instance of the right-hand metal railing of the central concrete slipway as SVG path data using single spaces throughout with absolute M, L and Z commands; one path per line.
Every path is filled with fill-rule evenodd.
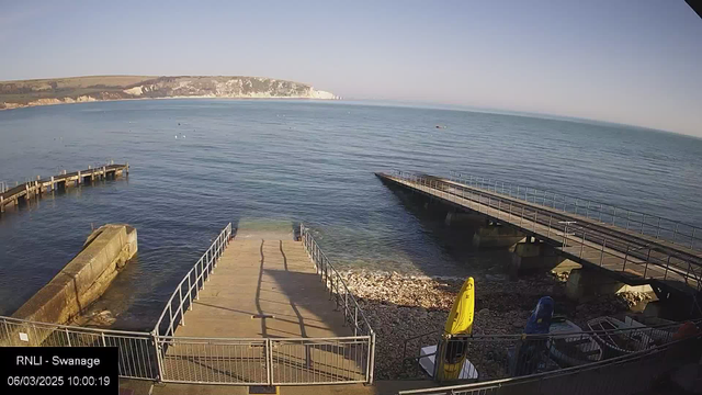
M 317 274 L 321 278 L 329 296 L 335 300 L 337 308 L 341 308 L 344 323 L 351 325 L 353 335 L 356 338 L 365 338 L 367 341 L 367 353 L 365 354 L 365 376 L 367 383 L 373 383 L 373 366 L 375 364 L 375 331 L 371 327 L 365 313 L 359 306 L 355 296 L 347 286 L 346 281 L 331 264 L 327 255 L 319 248 L 317 241 L 312 236 L 309 229 L 301 224 L 299 235 L 305 251 L 315 264 Z

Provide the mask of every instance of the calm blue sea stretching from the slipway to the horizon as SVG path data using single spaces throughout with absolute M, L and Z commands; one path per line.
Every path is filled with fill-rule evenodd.
M 446 128 L 435 128 L 445 125 Z M 178 136 L 178 138 L 176 138 Z M 0 112 L 0 181 L 128 161 L 128 180 L 45 198 L 0 219 L 0 314 L 80 249 L 91 226 L 138 229 L 138 259 L 105 300 L 148 327 L 229 222 L 304 222 L 340 266 L 499 271 L 384 187 L 375 171 L 460 170 L 702 225 L 702 139 L 635 127 L 344 102 L 157 100 Z M 114 307 L 114 305 L 118 305 Z

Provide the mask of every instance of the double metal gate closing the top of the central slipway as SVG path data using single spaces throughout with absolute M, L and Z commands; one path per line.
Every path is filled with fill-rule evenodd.
M 372 380 L 367 336 L 157 339 L 163 382 L 310 385 Z

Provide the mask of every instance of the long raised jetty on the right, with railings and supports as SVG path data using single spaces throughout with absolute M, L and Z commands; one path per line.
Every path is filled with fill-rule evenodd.
M 483 241 L 526 241 L 516 248 L 517 255 L 524 255 L 517 258 L 535 253 L 543 261 L 548 249 L 622 283 L 648 284 L 660 298 L 672 293 L 693 295 L 702 289 L 702 251 L 697 249 L 702 245 L 702 232 L 692 226 L 460 173 L 441 178 L 397 171 L 376 177 L 453 211 L 485 216 L 486 229 L 479 234 Z

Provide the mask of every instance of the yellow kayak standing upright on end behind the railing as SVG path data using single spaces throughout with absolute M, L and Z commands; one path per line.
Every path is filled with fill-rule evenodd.
M 457 380 L 467 354 L 467 341 L 451 340 L 454 335 L 471 335 L 473 332 L 473 316 L 475 311 L 475 282 L 468 278 L 446 319 L 444 327 L 444 341 L 441 350 L 441 365 L 437 369 L 437 379 Z

